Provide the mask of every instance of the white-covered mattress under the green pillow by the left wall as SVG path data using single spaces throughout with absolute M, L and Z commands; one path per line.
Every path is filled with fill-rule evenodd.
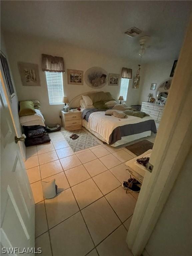
M 35 109 L 34 115 L 20 116 L 20 123 L 22 126 L 31 126 L 31 125 L 42 125 L 45 126 L 45 119 L 39 109 Z

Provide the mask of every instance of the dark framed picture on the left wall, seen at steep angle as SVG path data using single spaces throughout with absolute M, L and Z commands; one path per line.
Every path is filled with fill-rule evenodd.
M 11 79 L 11 74 L 9 71 L 7 58 L 2 52 L 1 52 L 1 64 L 3 67 L 4 74 L 5 74 L 5 79 L 7 82 L 9 94 L 10 94 L 11 98 L 13 98 L 13 96 L 15 95 L 15 91 L 14 91 L 14 87 L 13 87 L 13 83 L 12 83 L 12 79 Z

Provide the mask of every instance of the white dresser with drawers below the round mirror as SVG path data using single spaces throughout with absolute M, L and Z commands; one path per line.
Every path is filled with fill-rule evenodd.
M 165 105 L 151 102 L 142 102 L 141 111 L 149 114 L 155 121 L 160 122 L 163 116 Z

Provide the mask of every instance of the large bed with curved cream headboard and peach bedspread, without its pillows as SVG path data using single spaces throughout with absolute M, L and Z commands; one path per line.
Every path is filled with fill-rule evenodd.
M 78 95 L 70 102 L 70 107 L 78 107 L 82 95 L 97 92 L 87 92 Z M 116 147 L 136 139 L 147 137 L 151 132 L 156 133 L 156 125 L 150 116 L 139 118 L 117 118 L 106 116 L 105 111 L 81 108 L 82 126 L 103 142 Z

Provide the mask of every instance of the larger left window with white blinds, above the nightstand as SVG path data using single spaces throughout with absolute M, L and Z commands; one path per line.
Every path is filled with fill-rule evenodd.
M 61 72 L 45 72 L 49 104 L 63 104 L 63 76 Z

